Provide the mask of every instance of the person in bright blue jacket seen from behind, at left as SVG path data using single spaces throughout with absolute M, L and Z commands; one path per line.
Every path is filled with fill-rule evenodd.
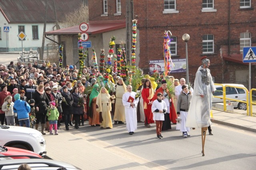
M 14 95 L 14 106 L 13 111 L 14 113 L 17 113 L 18 121 L 20 126 L 23 126 L 23 124 L 26 124 L 26 127 L 30 127 L 30 121 L 29 121 L 29 113 L 30 113 L 30 106 L 29 104 L 24 101 L 20 100 L 20 94 Z

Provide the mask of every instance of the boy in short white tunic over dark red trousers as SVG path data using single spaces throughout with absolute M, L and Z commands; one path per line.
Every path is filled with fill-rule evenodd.
M 151 111 L 153 112 L 153 120 L 156 121 L 156 137 L 161 139 L 163 136 L 162 125 L 164 121 L 164 113 L 167 111 L 167 106 L 164 101 L 162 101 L 163 94 L 158 93 L 157 99 L 152 103 Z

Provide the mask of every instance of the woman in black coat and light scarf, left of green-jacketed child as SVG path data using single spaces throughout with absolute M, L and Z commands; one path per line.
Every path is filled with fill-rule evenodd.
M 44 127 L 45 127 L 45 117 L 47 113 L 47 107 L 49 106 L 50 100 L 46 96 L 46 93 L 44 92 L 44 85 L 40 84 L 33 96 L 32 99 L 35 100 L 35 108 L 36 108 L 36 130 L 38 130 L 39 122 L 41 120 L 41 133 L 45 135 L 44 133 Z

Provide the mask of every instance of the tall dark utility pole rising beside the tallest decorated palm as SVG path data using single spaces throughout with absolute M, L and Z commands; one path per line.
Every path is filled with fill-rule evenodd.
M 133 0 L 126 0 L 126 58 L 130 63 L 131 47 L 132 47 L 132 20 L 133 16 Z

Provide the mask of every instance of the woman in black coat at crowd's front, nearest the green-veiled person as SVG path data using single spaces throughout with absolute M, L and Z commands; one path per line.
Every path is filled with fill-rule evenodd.
M 84 100 L 83 100 L 84 98 L 83 98 L 82 94 L 80 94 L 78 87 L 74 87 L 71 91 L 71 94 L 74 99 L 72 106 L 73 106 L 73 115 L 75 118 L 75 128 L 78 129 L 80 115 L 84 114 Z

